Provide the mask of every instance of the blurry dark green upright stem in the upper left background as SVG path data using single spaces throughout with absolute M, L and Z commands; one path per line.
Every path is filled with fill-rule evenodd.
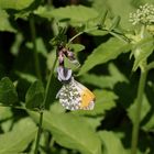
M 38 79 L 42 80 L 41 77 L 41 70 L 40 70 L 40 62 L 38 62 L 38 54 L 36 48 L 36 32 L 35 32 L 35 23 L 33 16 L 30 18 L 30 29 L 31 29 L 31 35 L 32 35 L 32 42 L 33 42 L 33 52 L 34 52 L 34 66 L 36 76 Z

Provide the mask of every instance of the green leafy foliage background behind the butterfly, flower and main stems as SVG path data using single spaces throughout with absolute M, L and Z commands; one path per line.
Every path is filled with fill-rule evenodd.
M 145 52 L 133 63 L 132 46 L 112 34 L 132 31 L 129 13 L 145 2 L 154 4 L 153 0 L 0 0 L 0 154 L 34 153 L 37 108 L 56 57 L 56 46 L 50 42 L 57 36 L 58 26 L 67 28 L 68 41 L 85 32 L 70 44 L 81 66 L 76 69 L 69 62 L 66 65 L 74 69 L 78 81 L 94 91 L 96 106 L 92 111 L 66 112 L 55 99 L 62 86 L 55 69 L 40 154 L 130 153 L 138 67 L 145 57 L 153 61 L 153 38 L 142 42 Z M 87 31 L 98 24 L 103 24 L 105 30 Z M 150 72 L 141 110 L 139 154 L 154 154 L 153 77 Z

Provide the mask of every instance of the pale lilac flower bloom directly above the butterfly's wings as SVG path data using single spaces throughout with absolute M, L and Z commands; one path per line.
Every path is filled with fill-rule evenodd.
M 57 67 L 58 80 L 68 81 L 72 78 L 73 70 L 63 66 Z

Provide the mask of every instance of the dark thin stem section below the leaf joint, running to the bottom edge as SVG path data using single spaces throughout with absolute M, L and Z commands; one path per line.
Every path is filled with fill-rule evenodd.
M 41 133 L 42 133 L 42 122 L 43 122 L 43 111 L 40 112 L 40 122 L 38 122 L 38 130 L 37 130 L 34 154 L 37 154 L 37 151 L 38 151 L 38 144 L 40 144 L 40 139 L 41 139 Z

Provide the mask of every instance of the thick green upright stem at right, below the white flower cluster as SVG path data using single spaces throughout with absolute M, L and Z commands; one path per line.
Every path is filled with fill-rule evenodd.
M 138 98 L 136 98 L 136 111 L 135 111 L 135 119 L 134 119 L 133 131 L 132 131 L 131 154 L 136 154 L 138 152 L 140 118 L 141 118 L 141 109 L 142 109 L 146 76 L 147 76 L 147 70 L 141 69 L 141 76 L 140 76 L 139 88 L 138 88 Z

